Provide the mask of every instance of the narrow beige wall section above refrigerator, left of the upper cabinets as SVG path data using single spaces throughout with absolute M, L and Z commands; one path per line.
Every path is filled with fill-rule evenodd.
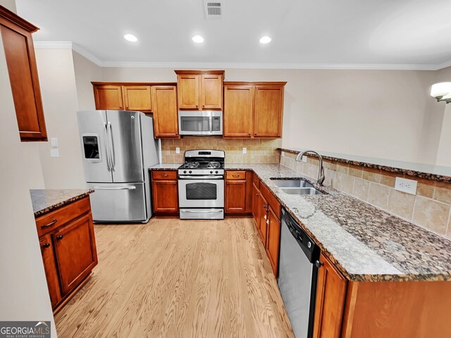
M 78 108 L 80 111 L 95 109 L 92 81 L 102 80 L 101 67 L 92 63 L 84 56 L 73 51 L 73 63 L 75 68 L 75 82 L 77 84 Z

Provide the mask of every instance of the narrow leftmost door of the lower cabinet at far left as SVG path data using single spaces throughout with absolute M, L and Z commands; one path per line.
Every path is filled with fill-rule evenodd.
M 56 304 L 61 301 L 61 291 L 59 288 L 58 270 L 56 269 L 54 245 L 51 242 L 50 234 L 39 239 L 39 246 L 41 246 L 42 263 L 44 263 L 51 307 L 55 308 Z

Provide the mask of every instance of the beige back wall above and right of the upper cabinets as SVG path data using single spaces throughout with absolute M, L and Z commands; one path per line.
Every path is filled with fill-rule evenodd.
M 176 81 L 171 68 L 103 68 L 104 81 Z M 287 81 L 283 146 L 435 163 L 443 110 L 433 71 L 227 69 L 226 81 Z

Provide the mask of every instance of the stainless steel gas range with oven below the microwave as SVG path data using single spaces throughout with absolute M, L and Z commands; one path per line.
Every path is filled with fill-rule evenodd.
M 224 158 L 222 150 L 187 150 L 178 168 L 178 200 L 182 220 L 224 218 Z

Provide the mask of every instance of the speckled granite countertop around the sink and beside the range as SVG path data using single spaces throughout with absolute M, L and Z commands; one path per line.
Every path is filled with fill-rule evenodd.
M 318 187 L 283 165 L 226 164 L 226 169 L 253 170 L 348 280 L 451 280 L 451 241 L 445 237 L 332 187 Z M 326 194 L 285 194 L 271 178 L 303 178 Z

